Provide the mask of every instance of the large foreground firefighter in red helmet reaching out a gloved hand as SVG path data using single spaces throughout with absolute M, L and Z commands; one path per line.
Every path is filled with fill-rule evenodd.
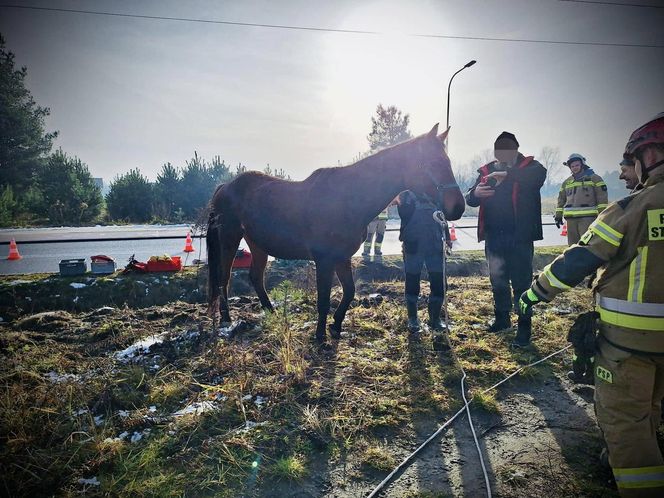
M 527 312 L 601 268 L 594 287 L 597 420 L 620 495 L 664 496 L 656 437 L 664 398 L 664 113 L 632 133 L 624 155 L 643 189 L 604 210 L 519 307 Z

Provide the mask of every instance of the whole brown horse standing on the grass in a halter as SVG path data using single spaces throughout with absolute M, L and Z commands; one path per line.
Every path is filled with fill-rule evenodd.
M 207 231 L 209 304 L 219 301 L 222 322 L 230 322 L 228 282 L 242 237 L 253 256 L 249 279 L 263 308 L 272 311 L 265 291 L 268 255 L 316 263 L 318 324 L 325 339 L 330 289 L 336 272 L 343 298 L 330 335 L 341 336 L 341 322 L 355 295 L 351 256 L 367 235 L 367 225 L 403 190 L 442 197 L 445 216 L 461 217 L 463 195 L 444 150 L 447 131 L 438 125 L 425 135 L 381 150 L 355 164 L 321 168 L 301 182 L 249 171 L 220 185 L 212 196 Z

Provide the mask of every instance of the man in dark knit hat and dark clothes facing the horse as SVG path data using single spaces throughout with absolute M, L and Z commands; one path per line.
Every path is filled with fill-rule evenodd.
M 540 188 L 546 169 L 521 154 L 516 137 L 506 131 L 496 139 L 494 153 L 496 160 L 478 170 L 466 202 L 480 208 L 477 235 L 485 241 L 495 311 L 488 331 L 501 332 L 512 328 L 510 312 L 532 281 L 533 241 L 542 239 Z M 530 310 L 519 314 L 513 346 L 530 343 L 531 316 Z

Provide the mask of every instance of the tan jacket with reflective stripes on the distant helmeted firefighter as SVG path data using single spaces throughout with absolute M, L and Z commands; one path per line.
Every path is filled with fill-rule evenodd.
M 586 171 L 588 171 L 586 169 Z M 556 218 L 596 217 L 608 204 L 606 183 L 602 177 L 588 171 L 587 175 L 575 179 L 567 178 L 560 186 Z

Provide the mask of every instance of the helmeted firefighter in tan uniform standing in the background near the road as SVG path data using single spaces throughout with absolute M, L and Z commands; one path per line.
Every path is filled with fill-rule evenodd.
M 607 206 L 606 183 L 596 174 L 581 154 L 570 154 L 563 164 L 569 167 L 572 176 L 560 186 L 558 207 L 554 219 L 560 228 L 563 217 L 567 222 L 567 244 L 576 244 L 586 233 L 590 223 Z

